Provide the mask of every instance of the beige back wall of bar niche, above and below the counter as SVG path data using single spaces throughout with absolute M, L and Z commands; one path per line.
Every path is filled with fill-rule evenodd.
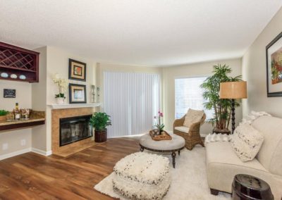
M 4 98 L 3 89 L 16 89 L 16 98 Z M 0 80 L 0 109 L 12 111 L 16 102 L 19 103 L 20 108 L 32 108 L 31 91 L 31 84 L 28 82 Z M 25 145 L 20 144 L 22 140 L 25 140 Z M 3 144 L 8 144 L 8 149 L 3 150 Z M 0 132 L 0 158 L 4 154 L 22 151 L 30 147 L 31 128 Z

